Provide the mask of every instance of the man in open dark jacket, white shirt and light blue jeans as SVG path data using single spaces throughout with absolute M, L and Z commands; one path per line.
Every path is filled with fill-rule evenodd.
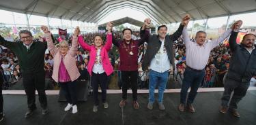
M 169 76 L 171 65 L 174 65 L 173 41 L 176 41 L 181 35 L 184 26 L 189 22 L 188 15 L 182 18 L 182 22 L 172 35 L 167 35 L 167 26 L 158 26 L 158 35 L 150 35 L 147 41 L 147 51 L 143 58 L 142 69 L 145 71 L 150 67 L 149 72 L 149 103 L 148 109 L 153 109 L 155 102 L 154 91 L 158 85 L 158 107 L 160 110 L 165 110 L 163 105 L 163 96 Z M 141 29 L 141 35 L 145 30 Z

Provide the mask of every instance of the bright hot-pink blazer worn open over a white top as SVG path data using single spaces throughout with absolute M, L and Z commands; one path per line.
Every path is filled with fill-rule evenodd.
M 96 54 L 97 54 L 97 50 L 95 48 L 95 46 L 89 46 L 87 43 L 85 43 L 85 41 L 83 40 L 83 36 L 79 36 L 79 44 L 80 46 L 89 51 L 90 52 L 90 58 L 89 58 L 89 63 L 87 66 L 89 75 L 91 75 L 92 72 L 92 68 L 94 67 L 94 63 L 96 60 Z M 111 73 L 113 73 L 113 67 L 109 61 L 109 55 L 108 52 L 111 49 L 112 46 L 112 35 L 111 33 L 108 33 L 106 35 L 106 44 L 102 47 L 102 50 L 100 52 L 101 55 L 101 60 L 102 60 L 102 67 L 106 73 L 106 75 L 111 75 Z

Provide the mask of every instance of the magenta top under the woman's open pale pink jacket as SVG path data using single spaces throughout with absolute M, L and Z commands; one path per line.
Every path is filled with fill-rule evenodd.
M 68 75 L 68 71 L 61 58 L 61 64 L 59 65 L 59 82 L 70 82 L 70 80 L 70 75 Z

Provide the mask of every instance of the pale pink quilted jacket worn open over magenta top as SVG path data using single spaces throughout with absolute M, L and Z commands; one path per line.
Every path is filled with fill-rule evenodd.
M 51 35 L 49 35 L 51 36 Z M 61 53 L 59 52 L 59 48 L 56 48 L 53 44 L 53 39 L 51 37 L 46 37 L 47 46 L 51 54 L 53 55 L 53 79 L 55 82 L 59 82 L 59 65 L 61 64 Z M 78 79 L 80 76 L 79 69 L 76 67 L 76 52 L 78 50 L 77 37 L 73 36 L 72 46 L 68 53 L 63 57 L 63 63 L 68 71 L 68 75 L 70 75 L 70 79 L 73 82 Z

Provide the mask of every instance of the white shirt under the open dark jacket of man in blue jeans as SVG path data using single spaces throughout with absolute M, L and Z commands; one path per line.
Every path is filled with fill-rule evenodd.
M 158 73 L 164 73 L 171 69 L 170 60 L 167 55 L 167 50 L 165 49 L 165 39 L 160 39 L 161 47 L 151 60 L 150 69 L 157 71 Z

